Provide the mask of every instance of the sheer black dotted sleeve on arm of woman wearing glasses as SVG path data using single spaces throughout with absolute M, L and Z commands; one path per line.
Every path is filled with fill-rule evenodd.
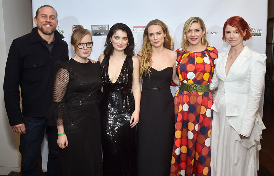
M 48 125 L 63 125 L 63 118 L 67 112 L 64 96 L 67 91 L 68 82 L 68 70 L 60 68 L 54 81 L 53 99 L 47 116 Z

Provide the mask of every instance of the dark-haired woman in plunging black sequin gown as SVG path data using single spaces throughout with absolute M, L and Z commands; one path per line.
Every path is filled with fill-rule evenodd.
M 103 175 L 136 175 L 136 124 L 140 111 L 140 63 L 129 27 L 117 23 L 106 38 L 100 104 Z M 131 90 L 132 89 L 132 92 Z

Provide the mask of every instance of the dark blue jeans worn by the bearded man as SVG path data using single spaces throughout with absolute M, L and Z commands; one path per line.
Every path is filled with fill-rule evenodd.
M 41 151 L 45 128 L 48 136 L 49 158 L 47 175 L 57 175 L 57 127 L 47 126 L 45 117 L 23 117 L 25 121 L 26 134 L 20 137 L 19 151 L 22 155 L 22 175 L 39 175 L 38 159 Z

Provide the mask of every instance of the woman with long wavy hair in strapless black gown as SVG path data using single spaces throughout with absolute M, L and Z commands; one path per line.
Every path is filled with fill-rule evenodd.
M 152 20 L 144 30 L 141 62 L 143 79 L 138 124 L 138 175 L 169 175 L 174 138 L 174 98 L 177 53 L 167 26 Z

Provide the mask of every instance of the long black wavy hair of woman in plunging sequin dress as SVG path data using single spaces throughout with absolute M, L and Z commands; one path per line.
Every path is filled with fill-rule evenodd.
M 128 56 L 134 56 L 134 51 L 133 50 L 134 50 L 135 45 L 134 45 L 133 34 L 132 34 L 130 28 L 127 25 L 123 24 L 123 23 L 116 23 L 115 25 L 113 25 L 109 29 L 108 35 L 106 36 L 106 44 L 104 45 L 106 47 L 104 49 L 104 55 L 106 57 L 109 57 L 110 55 L 112 55 L 112 53 L 113 53 L 113 46 L 110 43 L 110 38 L 118 30 L 124 31 L 128 35 L 128 46 L 124 50 L 124 53 L 126 55 L 128 55 Z

